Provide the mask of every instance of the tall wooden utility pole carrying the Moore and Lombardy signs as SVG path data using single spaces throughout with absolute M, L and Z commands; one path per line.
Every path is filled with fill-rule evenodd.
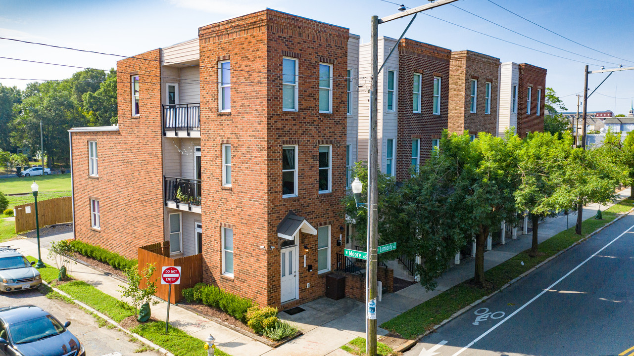
M 372 87 L 370 88 L 370 147 L 368 155 L 368 260 L 366 269 L 366 341 L 365 350 L 367 356 L 377 355 L 377 262 L 378 262 L 378 130 L 377 130 L 377 113 L 378 113 L 378 25 L 381 23 L 403 18 L 405 16 L 415 15 L 419 12 L 443 6 L 444 4 L 453 3 L 458 0 L 436 0 L 433 3 L 417 6 L 411 9 L 405 9 L 401 6 L 400 13 L 378 18 L 372 16 L 372 29 L 370 34 L 372 37 Z M 413 21 L 413 19 L 412 19 Z M 411 22 L 410 22 L 411 25 Z M 405 29 L 405 32 L 410 28 Z M 394 45 L 395 48 L 388 54 L 387 58 L 394 52 L 398 46 L 400 39 L 403 38 L 405 32 Z M 384 59 L 387 61 L 387 58 Z

